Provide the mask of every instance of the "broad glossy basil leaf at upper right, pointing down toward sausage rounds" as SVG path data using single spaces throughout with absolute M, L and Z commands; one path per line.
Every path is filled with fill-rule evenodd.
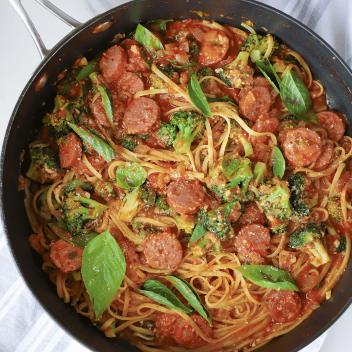
M 318 124 L 307 87 L 295 71 L 288 71 L 280 85 L 280 95 L 289 112 L 299 120 Z

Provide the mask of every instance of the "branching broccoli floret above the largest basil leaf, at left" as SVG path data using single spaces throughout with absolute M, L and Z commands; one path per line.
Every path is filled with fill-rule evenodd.
M 107 205 L 96 200 L 81 196 L 78 188 L 90 190 L 91 185 L 89 183 L 79 185 L 76 181 L 68 183 L 64 187 L 65 197 L 62 212 L 67 229 L 75 235 L 82 232 L 84 221 L 97 219 L 108 208 Z

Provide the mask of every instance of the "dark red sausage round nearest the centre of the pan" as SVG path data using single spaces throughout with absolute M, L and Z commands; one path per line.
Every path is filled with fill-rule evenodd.
M 198 179 L 177 179 L 167 188 L 167 202 L 179 214 L 195 215 L 200 209 L 205 192 Z

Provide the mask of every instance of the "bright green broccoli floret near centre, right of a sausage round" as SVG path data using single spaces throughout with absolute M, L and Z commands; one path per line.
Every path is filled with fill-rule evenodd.
M 170 122 L 161 123 L 156 138 L 170 148 L 175 148 L 176 154 L 187 153 L 192 142 L 201 138 L 205 129 L 205 117 L 194 111 L 175 112 Z

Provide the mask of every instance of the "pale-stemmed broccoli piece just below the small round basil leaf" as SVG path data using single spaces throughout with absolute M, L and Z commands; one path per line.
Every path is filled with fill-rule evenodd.
M 148 191 L 142 185 L 130 189 L 123 200 L 118 213 L 118 218 L 124 221 L 132 221 L 133 217 L 143 208 L 150 209 L 155 202 L 155 192 Z

